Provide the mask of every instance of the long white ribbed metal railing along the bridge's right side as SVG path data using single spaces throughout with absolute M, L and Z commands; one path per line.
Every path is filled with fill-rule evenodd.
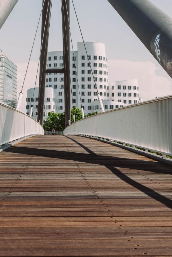
M 106 111 L 72 123 L 64 135 L 100 138 L 172 155 L 172 95 Z

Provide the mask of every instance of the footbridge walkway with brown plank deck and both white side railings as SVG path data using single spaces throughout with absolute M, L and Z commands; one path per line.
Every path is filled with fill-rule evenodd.
M 64 136 L 0 104 L 0 256 L 169 256 L 172 166 L 155 159 L 170 163 L 171 98 Z

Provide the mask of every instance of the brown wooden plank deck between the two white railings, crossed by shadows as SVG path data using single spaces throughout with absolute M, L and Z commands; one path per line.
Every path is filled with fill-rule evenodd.
M 79 136 L 0 154 L 0 256 L 172 256 L 172 166 Z

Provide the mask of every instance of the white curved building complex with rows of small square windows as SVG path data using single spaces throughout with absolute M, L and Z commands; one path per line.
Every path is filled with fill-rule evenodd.
M 71 108 L 72 106 L 79 108 L 82 105 L 86 115 L 94 111 L 101 112 L 95 82 L 105 111 L 138 103 L 139 92 L 137 79 L 109 83 L 105 45 L 97 42 L 85 42 L 85 45 L 89 60 L 83 42 L 78 42 L 78 51 L 74 51 L 75 57 L 71 51 Z M 90 65 L 93 70 L 95 82 L 91 74 Z M 63 52 L 48 52 L 47 67 L 63 67 Z M 79 85 L 77 83 L 76 70 Z M 50 111 L 57 113 L 64 112 L 64 74 L 47 73 L 45 87 L 44 117 L 46 118 Z M 32 105 L 31 98 L 34 98 L 32 116 L 35 118 L 38 105 L 38 88 L 36 88 L 34 96 L 33 92 L 34 88 L 28 90 L 26 108 L 27 114 L 29 114 L 30 106 Z

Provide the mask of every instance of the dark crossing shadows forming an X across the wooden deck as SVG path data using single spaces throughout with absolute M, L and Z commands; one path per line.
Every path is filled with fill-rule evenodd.
M 155 172 L 155 173 L 162 173 L 162 174 L 168 174 L 172 175 L 172 168 L 168 164 L 160 163 L 160 162 L 154 162 L 154 161 L 144 161 L 144 160 L 134 160 L 129 158 L 120 158 L 120 157 L 112 157 L 112 156 L 102 156 L 97 155 L 93 151 L 91 151 L 86 146 L 82 145 L 81 143 L 77 142 L 75 139 L 70 138 L 68 136 L 65 136 L 66 138 L 69 138 L 79 146 L 81 146 L 84 150 L 86 150 L 89 154 L 85 153 L 76 153 L 76 152 L 66 152 L 66 151 L 57 151 L 57 150 L 47 150 L 47 149 L 36 149 L 36 148 L 29 148 L 29 147 L 18 147 L 13 146 L 5 150 L 6 152 L 12 152 L 17 154 L 28 154 L 32 156 L 42 156 L 42 157 L 48 157 L 48 158 L 60 158 L 64 160 L 74 160 L 77 162 L 86 162 L 89 164 L 98 164 L 103 165 L 106 168 L 108 168 L 114 175 L 116 175 L 118 178 L 123 180 L 124 182 L 128 183 L 129 185 L 135 187 L 136 189 L 140 190 L 147 196 L 153 198 L 154 200 L 157 200 L 164 204 L 165 206 L 172 209 L 172 200 L 162 196 L 161 194 L 155 192 L 154 190 L 140 184 L 139 182 L 136 182 L 135 180 L 131 179 L 127 175 L 125 175 L 123 172 L 118 170 L 117 168 L 114 168 L 114 166 L 118 166 L 120 168 L 129 168 L 129 169 L 136 169 L 136 170 L 143 170 L 149 171 L 149 172 Z M 34 150 L 36 150 L 34 152 Z M 126 150 L 127 151 L 127 150 Z M 94 157 L 94 158 L 93 158 Z M 163 168 L 163 172 L 160 170 L 157 170 L 158 168 Z M 165 171 L 166 169 L 166 171 Z

